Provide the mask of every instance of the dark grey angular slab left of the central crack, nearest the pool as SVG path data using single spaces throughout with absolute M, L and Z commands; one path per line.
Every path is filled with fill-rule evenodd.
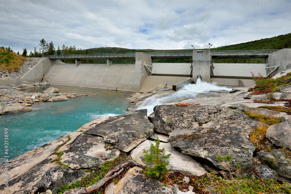
M 147 117 L 147 110 L 136 110 L 107 120 L 85 131 L 85 134 L 102 136 L 104 142 L 111 143 L 123 152 L 129 152 L 150 137 L 153 125 Z

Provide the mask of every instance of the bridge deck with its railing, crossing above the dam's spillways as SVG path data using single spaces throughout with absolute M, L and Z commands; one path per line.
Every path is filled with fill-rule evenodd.
M 237 50 L 237 51 L 210 51 L 212 58 L 268 58 L 270 53 L 278 50 Z M 146 53 L 152 59 L 192 58 L 192 51 L 150 52 Z M 78 55 L 49 55 L 49 59 L 135 59 L 136 53 L 100 53 Z

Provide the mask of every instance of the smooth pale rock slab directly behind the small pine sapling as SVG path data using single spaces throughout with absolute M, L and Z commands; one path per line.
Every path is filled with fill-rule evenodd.
M 155 142 L 150 140 L 145 140 L 144 142 L 139 144 L 139 146 L 131 151 L 132 159 L 141 164 L 146 164 L 143 156 L 143 149 L 150 150 L 150 145 L 152 143 L 155 145 Z M 196 162 L 190 156 L 176 151 L 170 145 L 170 143 L 160 142 L 160 149 L 162 148 L 165 148 L 165 155 L 171 154 L 168 159 L 164 159 L 165 161 L 169 161 L 169 165 L 167 166 L 168 170 L 181 171 L 183 173 L 194 174 L 196 176 L 201 176 L 206 173 L 206 170 L 204 170 L 204 168 L 198 162 Z

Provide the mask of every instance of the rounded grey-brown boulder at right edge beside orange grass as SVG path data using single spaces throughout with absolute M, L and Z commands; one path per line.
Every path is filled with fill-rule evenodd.
M 266 137 L 276 146 L 291 148 L 291 120 L 269 126 Z

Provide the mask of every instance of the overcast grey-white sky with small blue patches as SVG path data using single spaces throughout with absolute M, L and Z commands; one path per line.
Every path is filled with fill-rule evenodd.
M 1 0 L 0 46 L 190 49 L 291 33 L 290 0 Z

